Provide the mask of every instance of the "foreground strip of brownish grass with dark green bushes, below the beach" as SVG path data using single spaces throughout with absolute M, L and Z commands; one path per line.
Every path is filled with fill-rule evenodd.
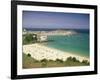
M 75 57 L 68 57 L 65 61 L 62 59 L 56 60 L 36 60 L 31 57 L 31 54 L 27 55 L 23 53 L 23 68 L 44 68 L 44 67 L 69 67 L 69 66 L 88 66 L 90 63 L 87 60 L 80 62 Z

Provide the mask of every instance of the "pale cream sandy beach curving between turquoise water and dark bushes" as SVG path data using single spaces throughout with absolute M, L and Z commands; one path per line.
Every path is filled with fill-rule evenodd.
M 56 60 L 62 59 L 65 61 L 68 57 L 76 57 L 79 61 L 82 60 L 89 60 L 89 58 L 82 57 L 76 54 L 72 54 L 69 52 L 63 52 L 54 48 L 49 48 L 44 45 L 40 45 L 38 43 L 30 44 L 30 45 L 23 45 L 23 52 L 25 54 L 30 53 L 31 56 L 37 60 L 47 59 L 47 60 Z

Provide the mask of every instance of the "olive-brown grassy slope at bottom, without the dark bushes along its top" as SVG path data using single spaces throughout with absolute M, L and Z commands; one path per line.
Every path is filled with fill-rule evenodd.
M 43 67 L 68 67 L 68 66 L 86 66 L 84 63 L 74 62 L 74 61 L 37 61 L 32 57 L 23 54 L 23 68 L 43 68 Z

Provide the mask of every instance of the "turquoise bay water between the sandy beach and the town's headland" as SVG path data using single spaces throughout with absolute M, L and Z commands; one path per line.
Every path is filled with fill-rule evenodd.
M 89 33 L 70 36 L 48 36 L 48 40 L 53 40 L 44 44 L 48 47 L 89 57 Z

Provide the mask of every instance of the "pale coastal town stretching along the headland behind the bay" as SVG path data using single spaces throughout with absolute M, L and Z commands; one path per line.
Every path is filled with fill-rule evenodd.
M 26 29 L 23 29 L 23 35 L 25 34 L 33 34 L 33 38 L 37 37 L 37 41 L 47 41 L 47 36 L 50 35 L 70 36 L 78 33 L 73 30 L 27 31 Z

